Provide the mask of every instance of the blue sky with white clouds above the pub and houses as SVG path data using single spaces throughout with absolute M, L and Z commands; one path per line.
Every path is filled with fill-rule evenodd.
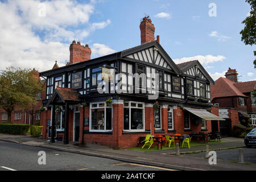
M 64 66 L 73 40 L 89 44 L 92 59 L 139 46 L 149 15 L 176 64 L 199 60 L 213 80 L 229 68 L 256 80 L 255 46 L 240 35 L 249 12 L 245 0 L 0 0 L 0 69 Z

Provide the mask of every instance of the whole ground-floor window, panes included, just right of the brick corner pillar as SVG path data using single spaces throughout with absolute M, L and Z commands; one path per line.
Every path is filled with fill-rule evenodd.
M 124 103 L 123 130 L 144 130 L 144 103 L 131 101 Z

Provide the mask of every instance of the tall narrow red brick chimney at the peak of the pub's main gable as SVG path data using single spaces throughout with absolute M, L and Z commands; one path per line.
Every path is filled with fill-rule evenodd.
M 151 23 L 149 16 L 145 16 L 139 25 L 141 29 L 141 44 L 155 40 L 155 26 Z

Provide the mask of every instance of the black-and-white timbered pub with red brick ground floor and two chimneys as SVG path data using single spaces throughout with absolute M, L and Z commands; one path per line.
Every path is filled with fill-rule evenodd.
M 47 80 L 46 110 L 41 114 L 45 138 L 54 142 L 57 134 L 64 144 L 79 141 L 128 148 L 137 146 L 139 137 L 146 134 L 212 131 L 211 121 L 222 119 L 210 102 L 212 78 L 197 60 L 176 65 L 159 36 L 155 40 L 148 16 L 141 20 L 140 29 L 141 46 L 95 59 L 90 59 L 88 45 L 74 40 L 67 65 L 55 64 L 40 73 Z M 146 74 L 146 80 L 137 81 L 139 93 L 131 92 L 135 73 Z M 97 88 L 104 80 L 110 80 L 109 92 L 100 93 Z M 118 93 L 115 88 L 120 81 L 122 92 Z M 154 100 L 149 99 L 153 92 L 158 95 Z

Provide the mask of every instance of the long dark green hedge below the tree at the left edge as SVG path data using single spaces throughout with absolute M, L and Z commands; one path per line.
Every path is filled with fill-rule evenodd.
M 0 133 L 24 135 L 29 127 L 24 124 L 0 123 Z

